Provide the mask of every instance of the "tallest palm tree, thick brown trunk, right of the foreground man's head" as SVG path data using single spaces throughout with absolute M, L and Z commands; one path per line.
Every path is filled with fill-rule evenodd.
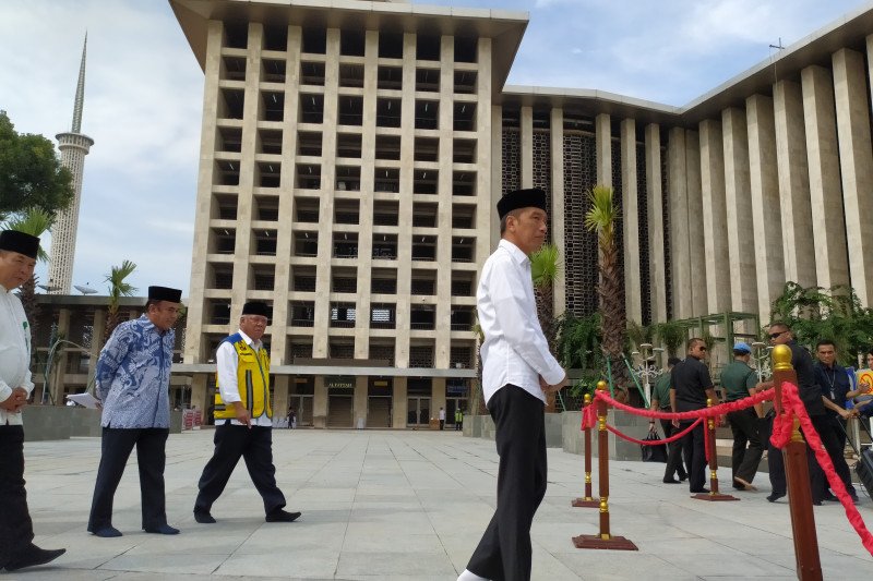
M 603 322 L 603 353 L 612 367 L 612 379 L 618 399 L 627 399 L 627 370 L 624 365 L 624 301 L 623 275 L 619 266 L 619 247 L 615 243 L 615 225 L 621 219 L 612 195 L 612 187 L 595 185 L 588 193 L 590 209 L 585 214 L 585 228 L 597 232 L 600 282 L 600 313 Z

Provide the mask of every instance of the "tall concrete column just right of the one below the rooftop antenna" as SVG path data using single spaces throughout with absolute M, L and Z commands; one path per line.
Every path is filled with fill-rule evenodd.
M 801 86 L 810 166 L 815 271 L 818 286 L 829 289 L 849 283 L 834 84 L 827 69 L 812 65 L 801 71 Z

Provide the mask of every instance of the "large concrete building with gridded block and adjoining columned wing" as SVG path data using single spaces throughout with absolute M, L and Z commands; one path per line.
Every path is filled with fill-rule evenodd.
M 274 406 L 410 427 L 465 407 L 477 273 L 503 192 L 541 186 L 597 308 L 585 192 L 611 185 L 630 319 L 757 313 L 787 280 L 873 289 L 866 7 L 685 107 L 504 86 L 525 13 L 404 2 L 170 0 L 204 74 L 184 363 L 272 304 Z M 733 329 L 742 331 L 743 329 Z M 746 331 L 753 329 L 744 329 Z

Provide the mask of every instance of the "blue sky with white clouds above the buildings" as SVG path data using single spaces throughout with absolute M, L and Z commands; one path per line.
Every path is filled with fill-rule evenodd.
M 507 83 L 588 88 L 682 106 L 861 0 L 429 0 L 527 12 Z M 88 35 L 85 158 L 73 285 L 128 279 L 188 295 L 203 72 L 166 0 L 2 0 L 0 109 L 20 133 L 69 131 Z M 57 142 L 56 142 L 57 143 Z M 44 237 L 44 246 L 50 235 Z M 46 283 L 47 265 L 37 266 Z

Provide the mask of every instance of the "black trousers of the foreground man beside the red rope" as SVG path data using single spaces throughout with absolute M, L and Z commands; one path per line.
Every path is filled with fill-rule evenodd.
M 545 406 L 521 387 L 507 384 L 488 402 L 494 419 L 498 507 L 467 569 L 493 581 L 530 579 L 530 524 L 546 496 Z

